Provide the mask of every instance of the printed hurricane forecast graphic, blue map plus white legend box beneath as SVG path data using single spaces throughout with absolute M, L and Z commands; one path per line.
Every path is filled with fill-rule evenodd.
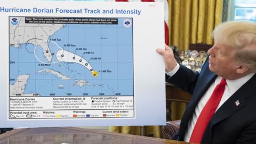
M 10 119 L 134 117 L 132 18 L 9 22 Z

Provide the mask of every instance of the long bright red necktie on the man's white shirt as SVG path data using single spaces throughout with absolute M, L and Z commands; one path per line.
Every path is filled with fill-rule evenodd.
M 194 130 L 191 134 L 189 142 L 196 142 L 200 143 L 206 126 L 208 125 L 210 119 L 212 118 L 213 114 L 215 113 L 222 95 L 225 91 L 225 86 L 227 85 L 226 79 L 222 78 L 221 82 L 215 87 L 212 92 L 210 99 L 205 104 L 201 114 L 199 115 Z

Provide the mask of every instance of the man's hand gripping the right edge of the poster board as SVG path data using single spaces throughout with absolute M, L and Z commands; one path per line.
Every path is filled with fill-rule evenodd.
M 156 49 L 156 51 L 163 55 L 164 57 L 164 63 L 165 63 L 165 72 L 169 73 L 171 72 L 177 65 L 177 61 L 174 58 L 174 54 L 173 51 L 171 49 L 171 47 L 169 47 L 168 45 L 165 45 L 165 50 L 163 49 Z

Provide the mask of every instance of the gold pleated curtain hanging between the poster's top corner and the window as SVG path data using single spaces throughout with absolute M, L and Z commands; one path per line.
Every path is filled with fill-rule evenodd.
M 211 33 L 222 21 L 222 0 L 169 0 L 169 43 L 188 50 L 190 43 L 213 44 Z

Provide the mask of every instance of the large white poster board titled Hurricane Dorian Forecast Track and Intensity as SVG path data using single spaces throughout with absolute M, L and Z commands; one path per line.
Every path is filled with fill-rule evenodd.
M 164 3 L 1 1 L 0 126 L 164 125 Z

